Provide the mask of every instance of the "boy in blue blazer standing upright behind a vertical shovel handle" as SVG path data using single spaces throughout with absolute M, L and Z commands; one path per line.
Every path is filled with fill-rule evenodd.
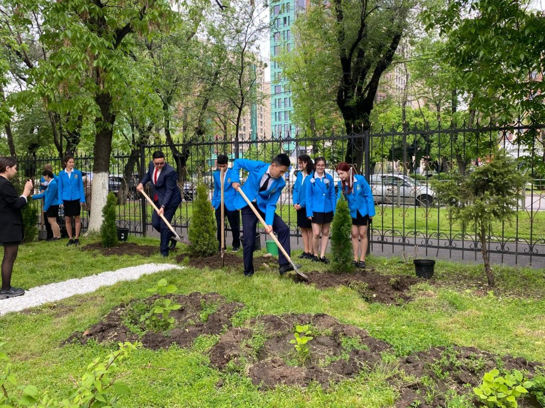
M 233 207 L 233 201 L 238 194 L 231 185 L 233 170 L 227 167 L 228 158 L 226 154 L 217 156 L 217 168 L 214 171 L 214 194 L 212 196 L 212 207 L 216 210 L 217 241 L 221 250 L 221 179 L 220 171 L 223 169 L 223 202 L 225 203 L 224 215 L 229 220 L 231 232 L 233 233 L 233 249 L 231 252 L 240 250 L 240 213 Z M 240 195 L 240 194 L 238 194 Z

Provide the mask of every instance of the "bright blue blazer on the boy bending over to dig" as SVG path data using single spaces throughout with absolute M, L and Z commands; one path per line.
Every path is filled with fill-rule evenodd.
M 270 163 L 263 163 L 257 160 L 236 159 L 233 162 L 231 183 L 240 183 L 240 169 L 244 169 L 248 172 L 248 178 L 241 188 L 250 201 L 257 201 L 257 207 L 265 213 L 265 222 L 267 222 L 267 225 L 272 225 L 274 213 L 276 211 L 276 202 L 278 201 L 278 198 L 280 198 L 282 189 L 286 186 L 286 180 L 284 180 L 283 177 L 272 178 L 269 180 L 267 191 L 261 191 L 260 193 L 259 184 L 261 183 L 261 178 L 269 169 L 269 166 Z M 234 199 L 234 208 L 240 209 L 247 205 L 246 201 L 237 191 L 237 195 L 235 195 Z

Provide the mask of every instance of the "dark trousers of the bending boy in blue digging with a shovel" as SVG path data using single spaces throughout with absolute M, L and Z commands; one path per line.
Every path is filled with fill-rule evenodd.
M 259 210 L 257 204 L 252 203 L 259 215 L 265 219 L 265 214 Z M 256 227 L 259 220 L 256 217 L 256 214 L 253 213 L 250 206 L 246 206 L 242 209 L 242 228 L 243 228 L 243 256 L 244 256 L 244 275 L 253 274 L 253 249 L 256 245 Z M 282 218 L 274 214 L 274 220 L 272 221 L 272 231 L 278 234 L 278 242 L 286 250 L 287 254 L 291 256 L 291 251 L 289 247 L 289 228 L 286 225 L 286 222 Z M 278 251 L 278 265 L 283 266 L 289 264 L 288 259 L 282 254 L 281 251 Z

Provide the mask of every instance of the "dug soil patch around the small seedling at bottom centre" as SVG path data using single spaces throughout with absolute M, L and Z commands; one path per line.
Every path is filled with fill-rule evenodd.
M 295 325 L 307 324 L 313 339 L 308 343 L 308 357 L 301 360 L 289 341 L 294 338 Z M 326 388 L 373 366 L 380 361 L 380 353 L 390 348 L 366 331 L 326 314 L 269 315 L 247 325 L 222 335 L 210 351 L 210 362 L 220 369 L 250 363 L 252 383 L 262 390 L 280 384 L 305 386 L 311 381 Z

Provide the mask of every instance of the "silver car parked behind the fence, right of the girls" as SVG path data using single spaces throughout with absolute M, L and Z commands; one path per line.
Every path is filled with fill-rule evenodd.
M 426 183 L 402 174 L 375 174 L 371 176 L 374 201 L 379 204 L 403 204 L 430 207 L 435 193 Z

